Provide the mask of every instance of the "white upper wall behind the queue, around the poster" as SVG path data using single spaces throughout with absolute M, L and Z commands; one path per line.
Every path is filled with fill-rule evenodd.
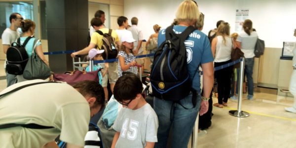
M 164 28 L 175 18 L 177 7 L 183 0 L 124 0 L 124 15 L 130 19 L 139 18 L 138 26 L 148 39 L 153 33 L 152 26 Z M 216 28 L 218 20 L 224 20 L 235 28 L 235 10 L 248 8 L 249 19 L 253 21 L 259 37 L 265 40 L 266 47 L 282 48 L 283 41 L 295 41 L 296 0 L 196 0 L 205 14 L 203 32 L 207 34 Z

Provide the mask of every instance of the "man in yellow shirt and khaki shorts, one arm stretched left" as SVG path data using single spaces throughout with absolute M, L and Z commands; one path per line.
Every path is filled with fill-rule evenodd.
M 109 33 L 109 29 L 104 27 L 104 24 L 103 24 L 101 19 L 93 18 L 90 21 L 90 24 L 96 31 L 100 30 L 101 32 L 103 32 L 103 34 L 108 34 Z M 111 36 L 114 38 L 115 43 L 117 45 L 119 45 L 119 43 L 120 43 L 119 42 L 119 37 L 118 37 L 115 30 L 112 30 Z M 101 49 L 102 45 L 103 45 L 103 36 L 101 36 L 97 32 L 94 32 L 91 35 L 90 44 L 87 47 L 85 47 L 84 49 L 82 49 L 82 50 L 73 52 L 71 54 L 71 56 L 75 57 L 76 55 L 86 55 L 86 54 L 88 54 L 90 49 L 96 48 L 96 47 Z M 105 92 L 105 100 L 108 100 L 108 88 L 107 88 L 108 78 L 109 78 L 111 91 L 113 93 L 113 88 L 114 88 L 115 82 L 116 82 L 116 80 L 118 78 L 117 73 L 118 73 L 117 72 L 117 62 L 109 63 L 108 73 L 103 77 L 103 80 L 102 80 L 102 86 L 103 86 L 104 92 Z

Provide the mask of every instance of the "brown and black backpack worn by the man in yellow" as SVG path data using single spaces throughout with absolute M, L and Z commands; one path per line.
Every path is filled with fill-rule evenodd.
M 105 60 L 115 59 L 118 54 L 118 47 L 115 44 L 115 39 L 111 36 L 112 30 L 109 29 L 108 34 L 103 34 L 103 32 L 100 30 L 98 30 L 96 32 L 98 34 L 100 34 L 101 36 L 103 36 L 103 45 L 102 45 L 101 49 L 105 50 L 105 52 L 103 52 L 102 57 Z

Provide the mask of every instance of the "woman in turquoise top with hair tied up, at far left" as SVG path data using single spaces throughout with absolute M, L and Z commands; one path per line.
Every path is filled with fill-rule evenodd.
M 23 44 L 24 41 L 28 38 L 28 37 L 32 37 L 30 38 L 30 40 L 28 41 L 28 43 L 26 44 L 25 46 L 25 49 L 27 51 L 27 54 L 29 57 L 32 56 L 32 51 L 36 50 L 36 53 L 37 55 L 39 56 L 39 58 L 49 67 L 49 63 L 48 61 L 45 59 L 45 56 L 43 54 L 43 51 L 42 51 L 42 46 L 41 46 L 41 42 L 40 40 L 38 40 L 35 44 L 34 44 L 34 41 L 35 41 L 35 37 L 34 37 L 34 34 L 35 34 L 35 28 L 36 28 L 36 24 L 35 22 L 33 22 L 32 20 L 29 20 L 29 19 L 26 19 L 26 20 L 23 20 L 21 22 L 21 29 L 22 29 L 22 32 L 23 32 L 23 36 L 20 37 L 20 43 Z M 17 75 L 17 82 L 22 82 L 22 81 L 25 81 L 27 79 L 25 79 L 23 77 L 23 75 Z

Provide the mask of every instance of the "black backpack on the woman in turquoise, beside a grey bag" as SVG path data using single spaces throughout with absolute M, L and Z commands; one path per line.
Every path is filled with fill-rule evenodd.
M 21 75 L 28 62 L 28 53 L 25 49 L 26 44 L 32 37 L 27 37 L 23 44 L 20 43 L 21 39 L 18 38 L 17 42 L 13 42 L 6 52 L 6 71 L 8 74 Z

